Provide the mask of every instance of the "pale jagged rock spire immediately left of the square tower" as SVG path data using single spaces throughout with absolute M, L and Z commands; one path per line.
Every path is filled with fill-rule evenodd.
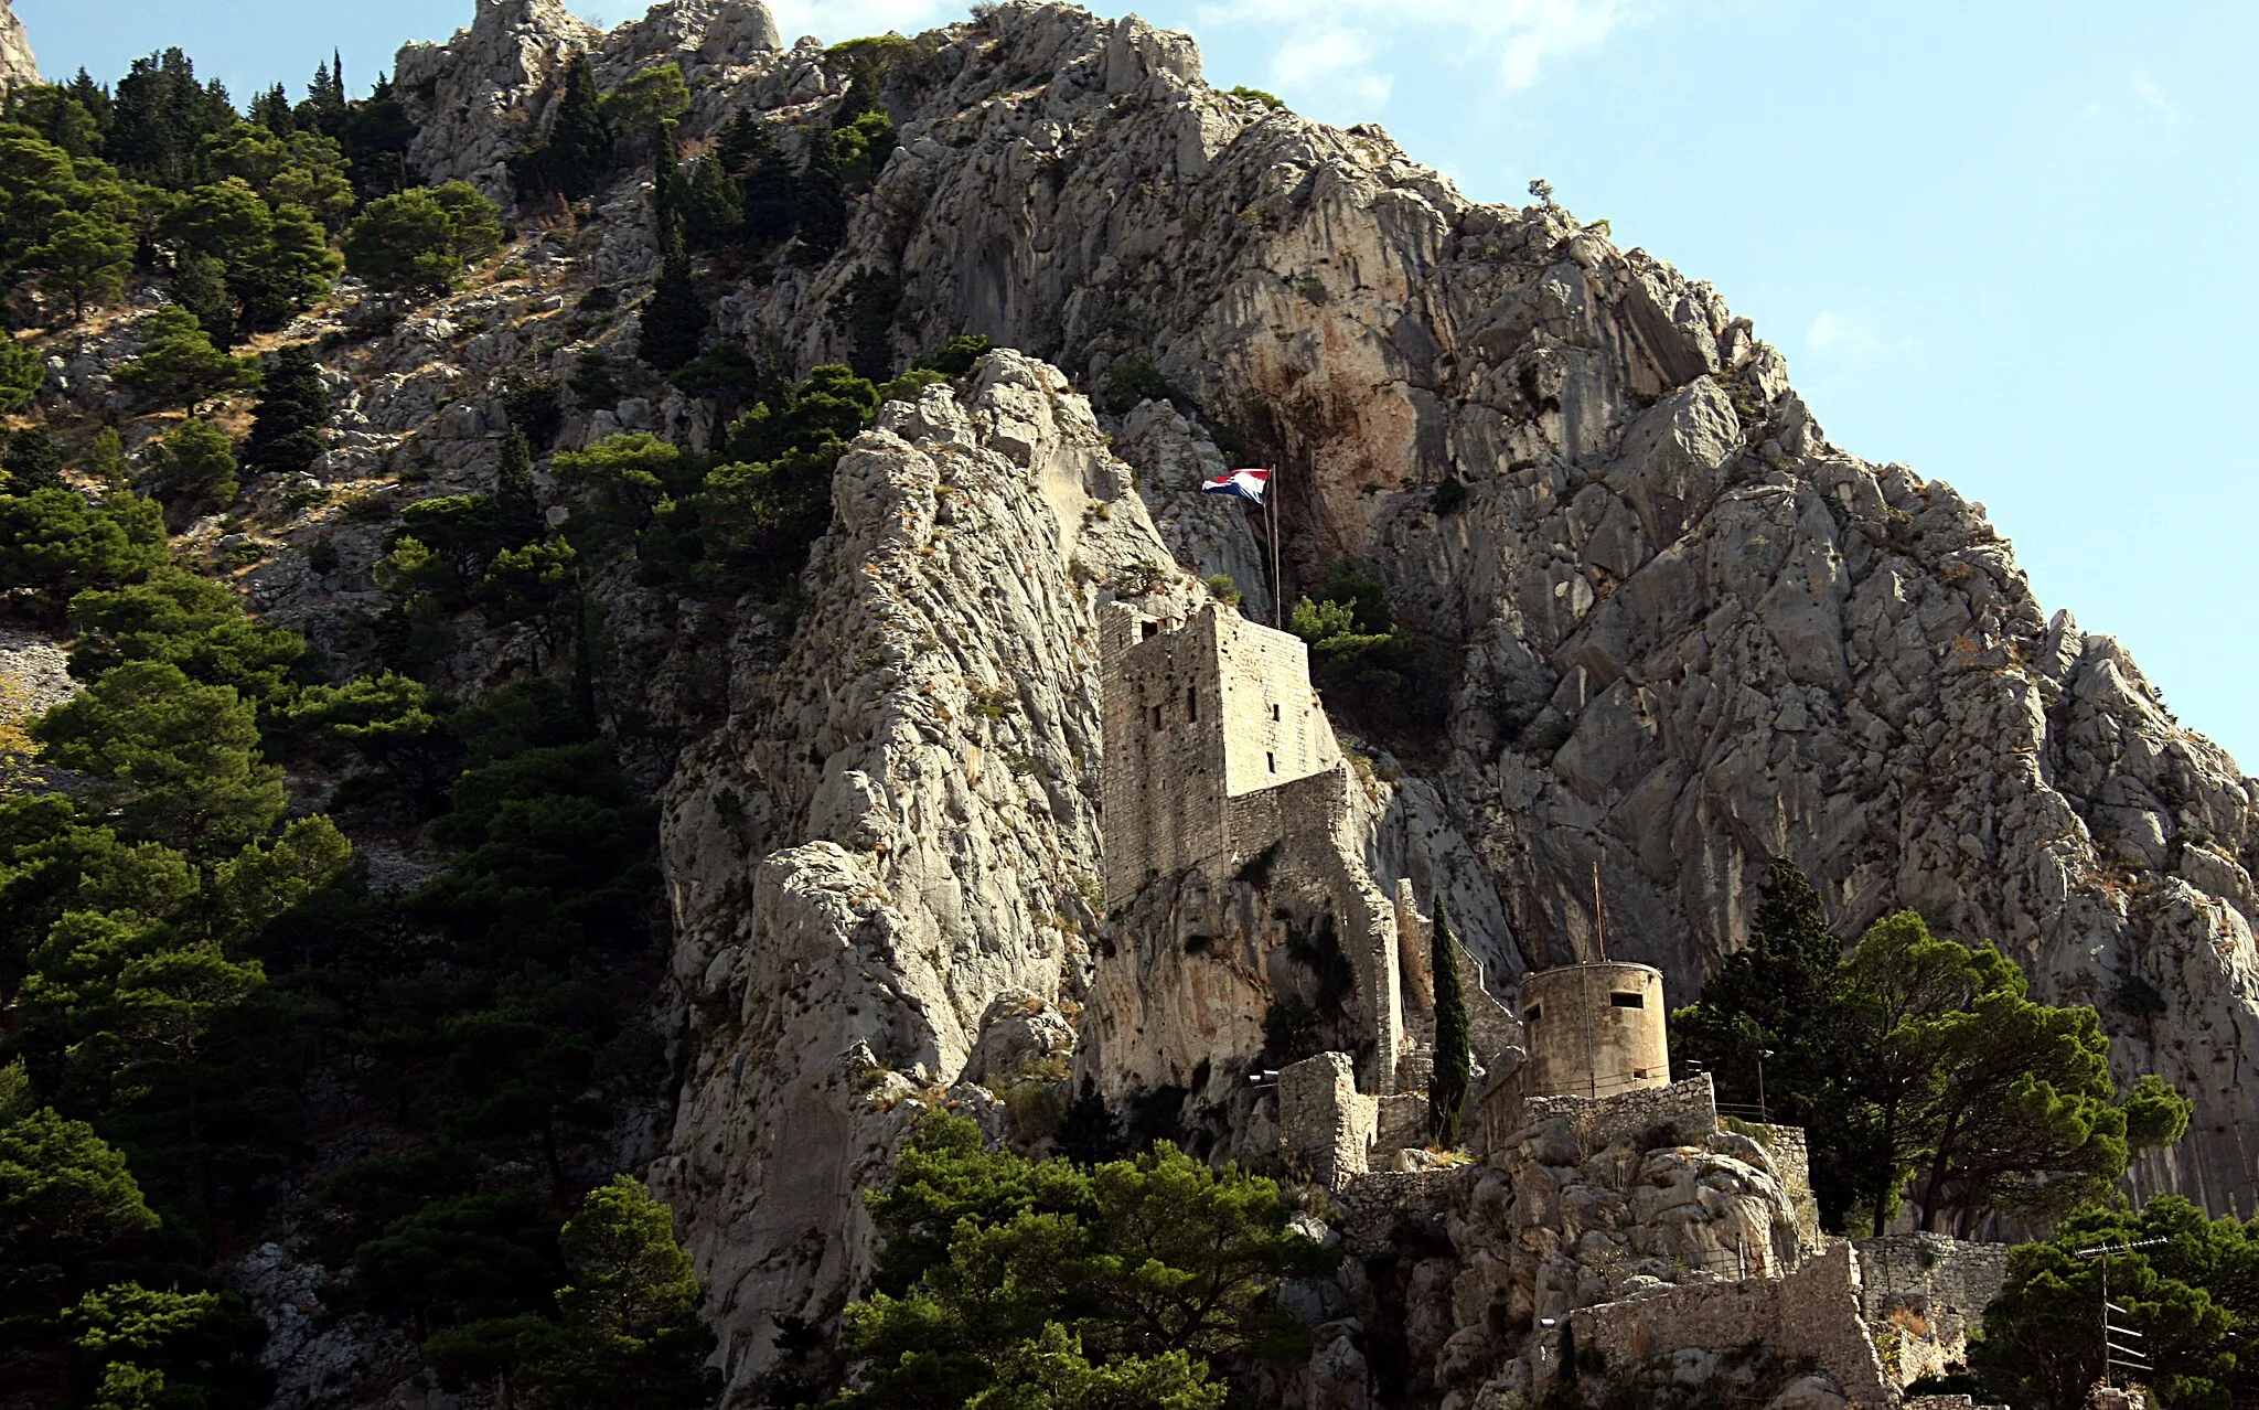
M 657 1184 L 739 1383 L 773 1313 L 836 1315 L 865 1270 L 904 1098 L 1023 1037 L 998 999 L 1080 985 L 1096 612 L 1161 554 L 1087 402 L 1010 352 L 888 407 L 834 506 L 791 646 L 745 630 L 662 825 L 689 1073 Z

